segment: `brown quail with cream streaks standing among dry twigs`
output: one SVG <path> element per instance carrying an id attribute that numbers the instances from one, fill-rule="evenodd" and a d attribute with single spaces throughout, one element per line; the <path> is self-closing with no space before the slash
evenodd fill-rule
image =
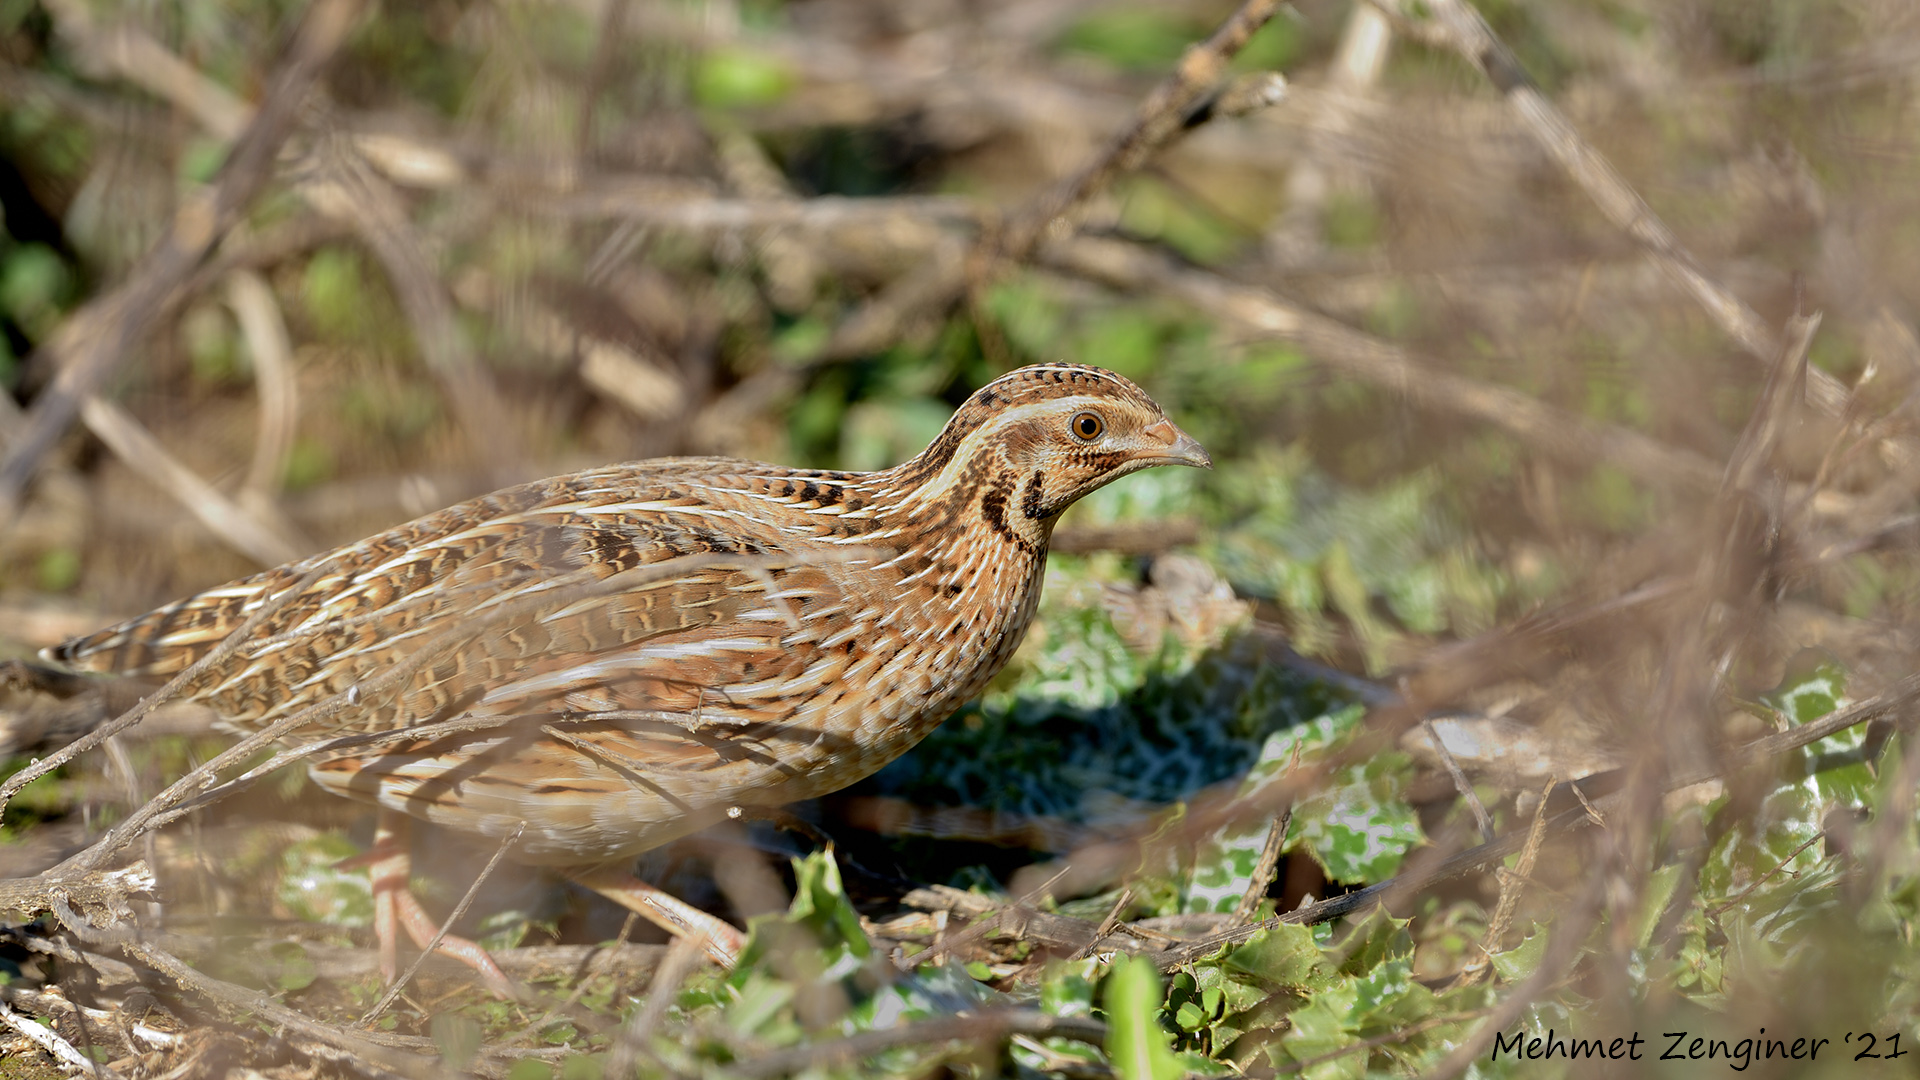
<path id="1" fill-rule="evenodd" d="M 184 696 L 238 728 L 346 696 L 288 736 L 380 736 L 321 753 L 324 788 L 490 838 L 524 826 L 516 859 L 685 928 L 691 909 L 660 919 L 655 890 L 622 892 L 618 863 L 904 753 L 1020 644 L 1060 511 L 1152 465 L 1210 461 L 1127 379 L 1023 367 L 887 471 L 682 457 L 574 473 L 46 655 L 169 676 L 300 586 Z M 419 671 L 371 690 L 419 650 Z"/>

